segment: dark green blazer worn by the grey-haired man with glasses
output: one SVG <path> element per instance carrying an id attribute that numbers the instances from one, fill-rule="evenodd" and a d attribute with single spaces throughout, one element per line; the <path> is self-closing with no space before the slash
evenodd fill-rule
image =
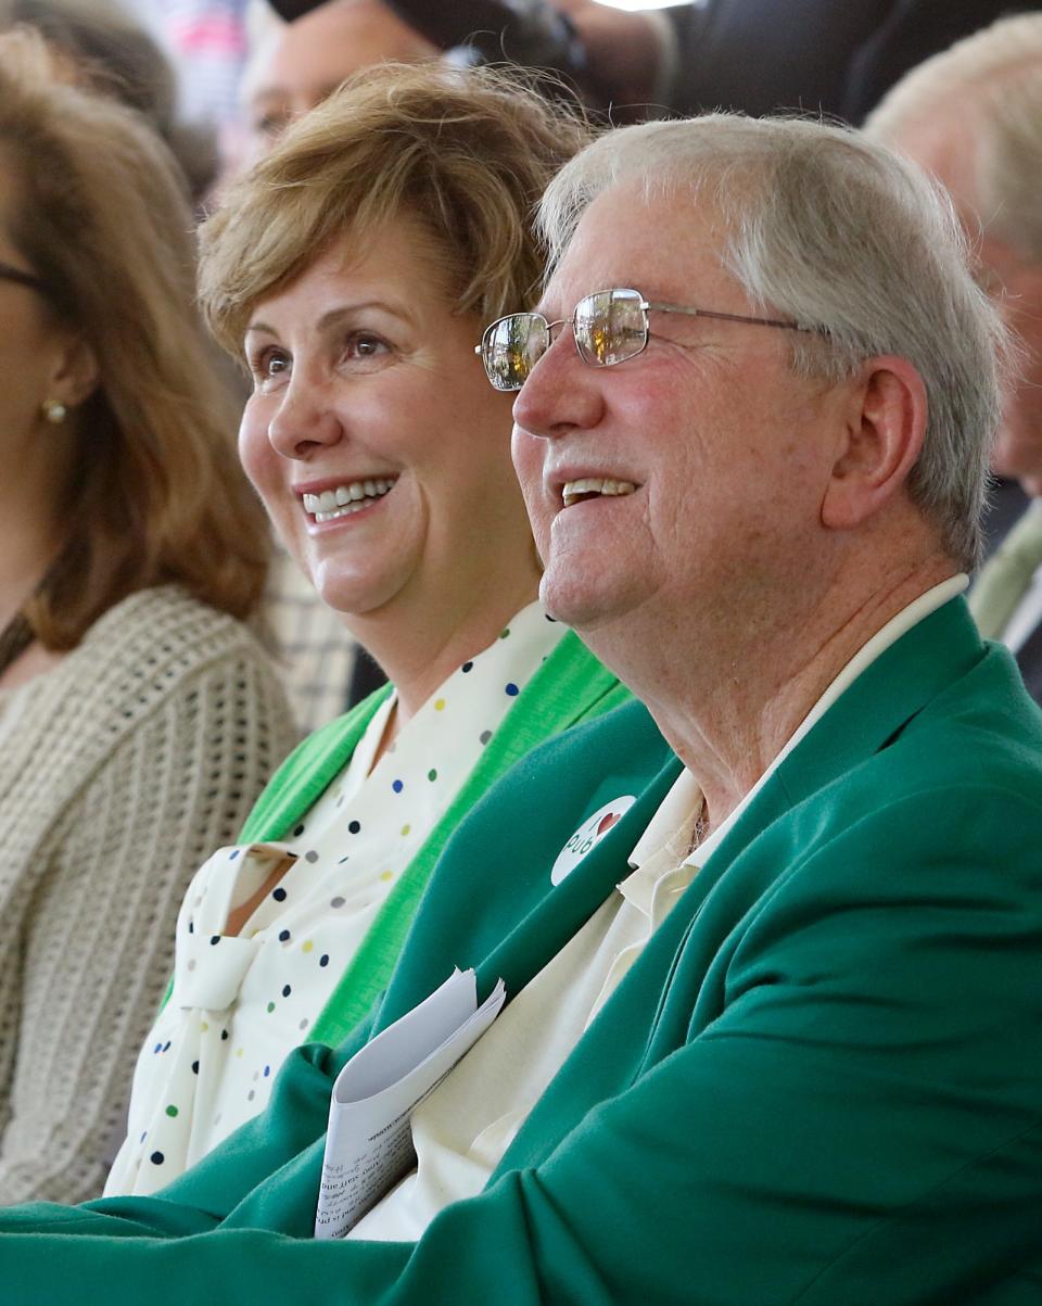
<path id="1" fill-rule="evenodd" d="M 1012 660 L 952 601 L 778 767 L 486 1191 L 418 1243 L 309 1238 L 363 1029 L 298 1050 L 268 1111 L 161 1196 L 0 1213 L 5 1306 L 1037 1303 L 1041 763 Z M 627 874 L 676 772 L 636 704 L 529 755 L 445 849 L 372 1028 L 453 964 L 516 994 Z"/>

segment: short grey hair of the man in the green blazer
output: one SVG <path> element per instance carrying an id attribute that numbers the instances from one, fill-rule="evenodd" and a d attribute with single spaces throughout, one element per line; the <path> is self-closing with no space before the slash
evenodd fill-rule
<path id="1" fill-rule="evenodd" d="M 586 206 L 632 180 L 652 201 L 713 206 L 725 270 L 757 307 L 810 328 L 791 333 L 798 372 L 838 381 L 880 354 L 913 363 L 930 418 L 909 492 L 952 558 L 973 565 L 1008 345 L 951 201 L 845 128 L 730 114 L 645 123 L 599 137 L 551 182 L 541 208 L 551 272 Z"/>

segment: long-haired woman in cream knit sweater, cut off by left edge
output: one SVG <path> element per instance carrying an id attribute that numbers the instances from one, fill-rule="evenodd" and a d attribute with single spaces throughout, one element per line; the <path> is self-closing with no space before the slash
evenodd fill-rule
<path id="1" fill-rule="evenodd" d="M 0 38 L 0 1202 L 95 1195 L 178 902 L 292 741 L 268 532 L 136 114 Z"/>

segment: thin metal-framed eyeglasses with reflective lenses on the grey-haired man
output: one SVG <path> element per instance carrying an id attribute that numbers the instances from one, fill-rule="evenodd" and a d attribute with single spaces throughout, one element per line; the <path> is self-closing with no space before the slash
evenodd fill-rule
<path id="1" fill-rule="evenodd" d="M 648 347 L 648 313 L 684 313 L 688 317 L 717 317 L 727 323 L 780 326 L 782 330 L 815 330 L 774 317 L 747 317 L 717 313 L 708 308 L 655 304 L 639 290 L 598 290 L 576 304 L 571 317 L 550 323 L 542 313 L 509 313 L 487 326 L 474 349 L 484 363 L 488 380 L 497 390 L 520 390 L 533 367 L 550 349 L 555 326 L 571 326 L 576 350 L 590 367 L 615 367 L 636 358 Z"/>

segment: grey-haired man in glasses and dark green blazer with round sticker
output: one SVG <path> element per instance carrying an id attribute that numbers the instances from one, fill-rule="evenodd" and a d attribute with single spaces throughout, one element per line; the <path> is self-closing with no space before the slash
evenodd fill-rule
<path id="1" fill-rule="evenodd" d="M 200 1166 L 4 1213 L 5 1306 L 1042 1298 L 1042 718 L 960 597 L 1003 337 L 956 225 L 726 116 L 602 137 L 543 223 L 483 360 L 543 598 L 649 710 L 487 795 L 371 1024 Z M 315 1239 L 334 1077 L 454 965 L 505 1008 Z"/>

